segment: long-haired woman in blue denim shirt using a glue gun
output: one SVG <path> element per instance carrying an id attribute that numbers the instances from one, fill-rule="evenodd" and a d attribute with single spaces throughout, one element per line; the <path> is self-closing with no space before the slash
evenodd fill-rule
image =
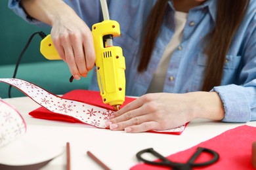
<path id="1" fill-rule="evenodd" d="M 89 27 L 102 14 L 95 0 L 65 2 L 10 0 L 9 7 L 53 27 L 54 46 L 79 79 L 93 69 Z M 126 94 L 141 97 L 114 113 L 107 127 L 140 132 L 195 118 L 256 120 L 255 0 L 112 0 L 108 7 L 121 25 L 114 44 L 125 56 Z"/>

